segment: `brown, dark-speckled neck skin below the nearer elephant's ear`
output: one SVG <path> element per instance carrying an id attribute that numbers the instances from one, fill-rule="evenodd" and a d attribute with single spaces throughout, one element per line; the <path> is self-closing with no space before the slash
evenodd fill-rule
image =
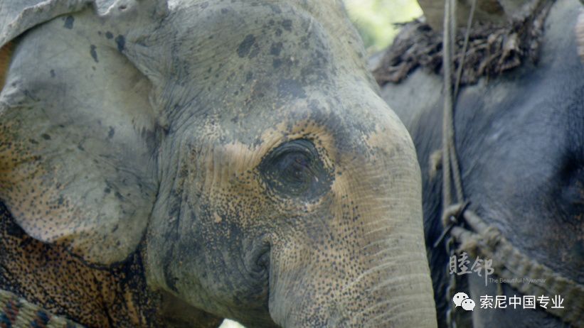
<path id="1" fill-rule="evenodd" d="M 61 246 L 28 236 L 0 202 L 0 254 L 0 326 L 5 320 L 12 327 L 28 327 L 15 325 L 13 319 L 75 321 L 90 327 L 158 324 L 154 307 L 160 297 L 147 288 L 139 252 L 111 268 L 96 268 Z"/>

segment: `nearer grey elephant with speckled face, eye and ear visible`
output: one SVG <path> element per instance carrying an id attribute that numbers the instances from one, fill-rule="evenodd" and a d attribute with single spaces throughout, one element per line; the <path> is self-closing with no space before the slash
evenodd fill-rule
<path id="1" fill-rule="evenodd" d="M 5 324 L 435 327 L 413 141 L 341 1 L 0 17 Z"/>

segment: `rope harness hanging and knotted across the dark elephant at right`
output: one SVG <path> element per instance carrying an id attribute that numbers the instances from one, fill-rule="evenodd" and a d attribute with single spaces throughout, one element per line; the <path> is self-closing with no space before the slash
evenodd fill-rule
<path id="1" fill-rule="evenodd" d="M 467 34 L 463 45 L 464 53 L 466 53 L 476 4 L 477 0 L 473 0 L 467 21 Z M 455 147 L 454 110 L 461 75 L 461 70 L 459 69 L 453 92 L 452 58 L 454 54 L 452 49 L 457 26 L 455 20 L 456 0 L 445 0 L 444 13 L 444 46 L 442 48 L 445 89 L 444 113 L 442 116 L 442 225 L 444 231 L 434 247 L 440 245 L 442 240 L 446 238 L 446 248 L 449 256 L 453 256 L 456 251 L 467 251 L 469 256 L 475 258 L 477 256 L 491 258 L 494 274 L 509 281 L 508 284 L 511 287 L 519 290 L 524 295 L 561 295 L 565 300 L 563 308 L 547 307 L 544 310 L 551 315 L 559 317 L 563 322 L 573 325 L 573 327 L 584 328 L 584 285 L 564 278 L 551 268 L 533 261 L 529 256 L 515 248 L 501 234 L 499 229 L 489 226 L 479 215 L 468 209 L 469 202 L 464 199 L 462 178 Z M 455 201 L 452 199 L 452 181 L 455 187 Z M 455 244 L 459 245 L 456 250 Z M 446 293 L 446 297 L 448 297 L 447 303 L 450 305 L 446 317 L 448 327 L 456 327 L 451 302 L 455 294 L 456 277 L 457 275 L 450 275 L 450 283 Z M 521 283 L 521 280 L 514 279 L 517 277 L 532 278 L 533 283 Z M 539 280 L 536 278 L 539 278 Z M 538 281 L 543 281 L 544 283 L 538 283 Z"/>

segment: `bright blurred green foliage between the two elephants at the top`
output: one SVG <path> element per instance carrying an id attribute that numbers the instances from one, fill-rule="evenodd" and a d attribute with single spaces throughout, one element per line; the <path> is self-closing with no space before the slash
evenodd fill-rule
<path id="1" fill-rule="evenodd" d="M 344 0 L 349 17 L 363 38 L 368 53 L 383 50 L 398 33 L 395 23 L 422 15 L 416 0 Z"/>

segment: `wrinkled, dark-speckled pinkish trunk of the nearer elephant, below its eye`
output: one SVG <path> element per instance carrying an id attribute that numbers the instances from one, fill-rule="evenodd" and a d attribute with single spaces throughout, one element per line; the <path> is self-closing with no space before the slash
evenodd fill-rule
<path id="1" fill-rule="evenodd" d="M 419 170 L 357 166 L 337 177 L 330 216 L 270 251 L 270 315 L 282 327 L 435 327 Z"/>

